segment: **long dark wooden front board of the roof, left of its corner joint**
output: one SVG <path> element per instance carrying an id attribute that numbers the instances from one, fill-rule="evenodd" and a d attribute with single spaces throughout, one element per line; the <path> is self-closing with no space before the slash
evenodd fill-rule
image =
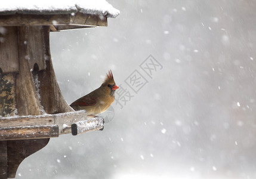
<path id="1" fill-rule="evenodd" d="M 69 23 L 69 14 L 13 14 L 0 16 L 0 26 L 38 26 Z"/>

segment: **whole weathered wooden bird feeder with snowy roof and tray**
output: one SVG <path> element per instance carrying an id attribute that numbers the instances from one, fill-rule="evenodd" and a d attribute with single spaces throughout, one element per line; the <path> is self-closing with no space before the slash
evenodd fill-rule
<path id="1" fill-rule="evenodd" d="M 106 1 L 100 3 L 100 8 L 1 5 L 0 178 L 15 177 L 20 162 L 50 137 L 103 129 L 103 118 L 88 119 L 85 110 L 75 112 L 64 100 L 49 46 L 50 32 L 107 26 L 108 17 L 118 16 Z"/>

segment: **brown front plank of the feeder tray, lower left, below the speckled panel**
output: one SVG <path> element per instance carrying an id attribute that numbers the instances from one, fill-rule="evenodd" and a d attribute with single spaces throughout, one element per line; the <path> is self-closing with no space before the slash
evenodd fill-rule
<path id="1" fill-rule="evenodd" d="M 0 128 L 0 140 L 58 137 L 57 125 L 16 126 Z"/>

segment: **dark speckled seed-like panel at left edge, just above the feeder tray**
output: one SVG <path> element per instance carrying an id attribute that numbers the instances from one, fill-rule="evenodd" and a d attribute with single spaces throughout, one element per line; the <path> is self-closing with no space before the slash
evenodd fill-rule
<path id="1" fill-rule="evenodd" d="M 0 116 L 13 116 L 17 112 L 14 81 L 13 73 L 0 75 Z"/>

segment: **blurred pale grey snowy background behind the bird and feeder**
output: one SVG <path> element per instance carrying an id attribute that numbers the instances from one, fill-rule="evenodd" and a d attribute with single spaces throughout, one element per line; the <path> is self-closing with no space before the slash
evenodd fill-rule
<path id="1" fill-rule="evenodd" d="M 115 116 L 51 138 L 16 178 L 256 178 L 256 1 L 109 3 L 108 27 L 52 32 L 50 46 L 69 104 L 112 69 Z"/>

